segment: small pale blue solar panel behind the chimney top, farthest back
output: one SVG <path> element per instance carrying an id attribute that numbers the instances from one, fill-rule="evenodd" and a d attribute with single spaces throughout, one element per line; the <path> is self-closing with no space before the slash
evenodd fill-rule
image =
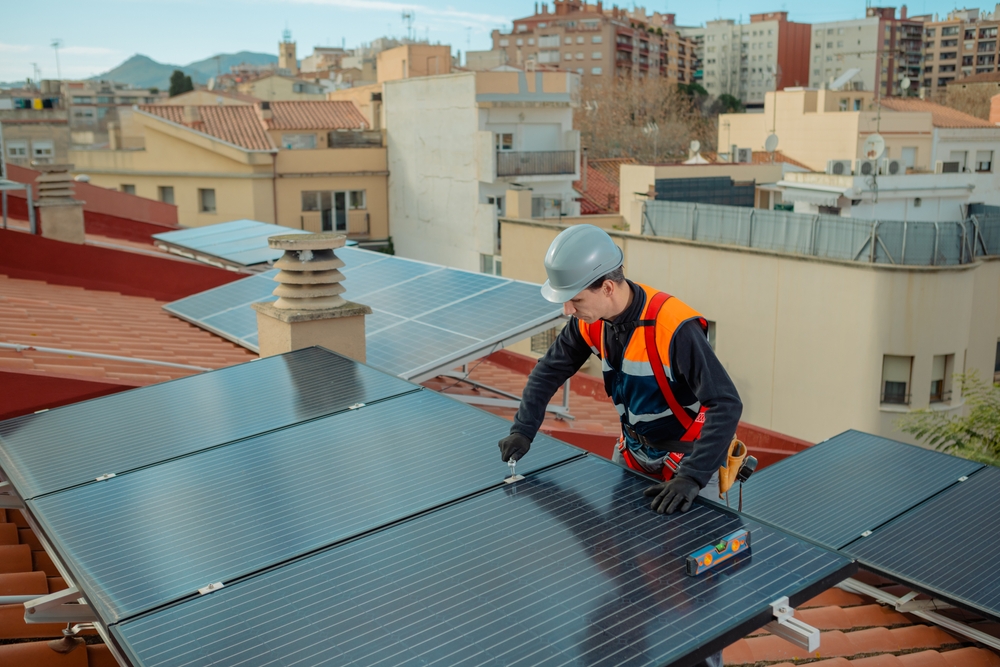
<path id="1" fill-rule="evenodd" d="M 267 244 L 268 237 L 276 234 L 308 232 L 256 220 L 233 220 L 153 234 L 153 238 L 157 245 L 185 257 L 210 264 L 245 267 L 273 262 L 281 257 L 284 251 L 275 250 Z"/>

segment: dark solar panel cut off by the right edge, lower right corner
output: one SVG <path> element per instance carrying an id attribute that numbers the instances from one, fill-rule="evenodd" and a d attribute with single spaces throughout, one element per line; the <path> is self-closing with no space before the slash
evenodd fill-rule
<path id="1" fill-rule="evenodd" d="M 843 549 L 897 581 L 1000 619 L 1000 469 L 968 480 Z"/>

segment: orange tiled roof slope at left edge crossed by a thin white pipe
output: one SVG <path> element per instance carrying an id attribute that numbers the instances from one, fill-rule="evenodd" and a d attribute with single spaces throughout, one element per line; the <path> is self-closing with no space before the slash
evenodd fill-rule
<path id="1" fill-rule="evenodd" d="M 178 320 L 155 299 L 0 275 L 0 342 L 222 368 L 255 354 Z M 140 386 L 198 371 L 0 349 L 0 369 Z"/>

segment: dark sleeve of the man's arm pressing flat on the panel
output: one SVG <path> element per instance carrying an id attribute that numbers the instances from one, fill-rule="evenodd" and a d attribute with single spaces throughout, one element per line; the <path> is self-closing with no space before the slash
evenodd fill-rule
<path id="1" fill-rule="evenodd" d="M 673 348 L 671 367 L 708 408 L 694 451 L 681 460 L 677 474 L 691 477 L 704 487 L 726 460 L 743 414 L 743 402 L 697 321 L 677 331 Z"/>

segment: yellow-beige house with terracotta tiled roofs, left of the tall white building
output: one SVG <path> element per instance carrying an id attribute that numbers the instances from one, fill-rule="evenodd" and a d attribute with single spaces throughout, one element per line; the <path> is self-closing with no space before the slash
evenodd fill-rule
<path id="1" fill-rule="evenodd" d="M 348 102 L 145 105 L 141 148 L 80 150 L 92 183 L 177 205 L 181 225 L 251 219 L 388 237 L 386 151 Z"/>

